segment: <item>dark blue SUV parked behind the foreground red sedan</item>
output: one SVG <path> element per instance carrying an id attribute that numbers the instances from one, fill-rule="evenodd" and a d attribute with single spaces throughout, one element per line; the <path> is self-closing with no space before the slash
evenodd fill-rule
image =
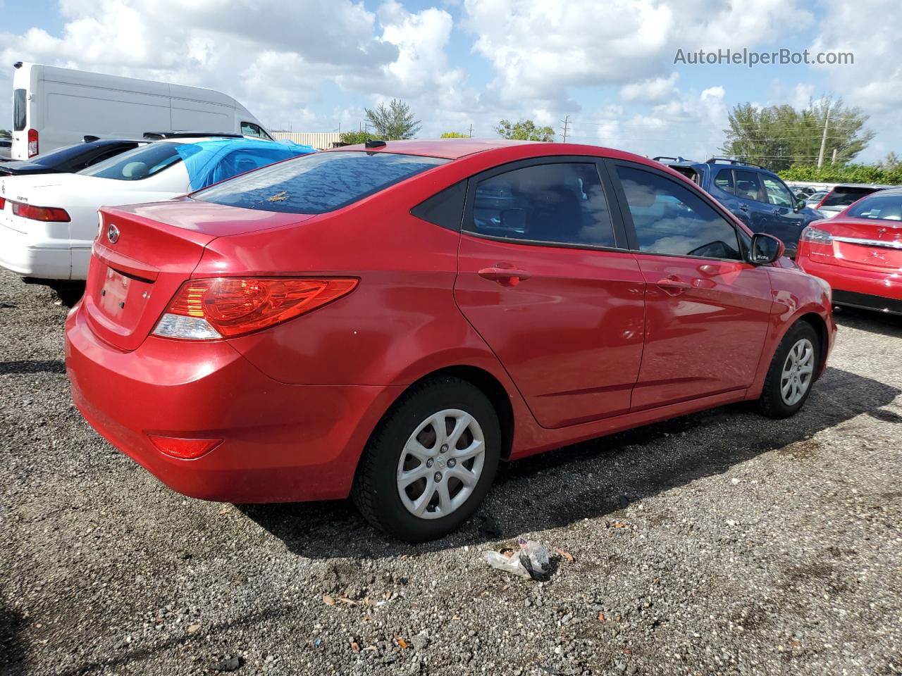
<path id="1" fill-rule="evenodd" d="M 753 233 L 768 233 L 783 240 L 787 255 L 796 257 L 805 225 L 823 218 L 796 199 L 773 171 L 739 160 L 711 158 L 704 162 L 681 157 L 656 157 L 706 190 Z"/>

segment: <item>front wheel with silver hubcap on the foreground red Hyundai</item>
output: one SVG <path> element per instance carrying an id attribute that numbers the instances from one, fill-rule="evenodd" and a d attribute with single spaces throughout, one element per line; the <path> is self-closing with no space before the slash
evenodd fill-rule
<path id="1" fill-rule="evenodd" d="M 793 324 L 770 361 L 758 411 L 769 418 L 794 416 L 811 394 L 820 368 L 820 340 L 815 328 L 805 321 Z"/>

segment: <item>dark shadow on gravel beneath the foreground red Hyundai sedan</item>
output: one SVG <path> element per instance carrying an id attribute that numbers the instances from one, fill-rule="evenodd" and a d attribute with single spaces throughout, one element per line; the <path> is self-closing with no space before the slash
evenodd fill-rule
<path id="1" fill-rule="evenodd" d="M 458 532 L 426 544 L 386 537 L 366 524 L 349 500 L 239 508 L 291 552 L 315 559 L 378 559 L 466 544 L 497 545 L 584 518 L 610 515 L 615 520 L 632 502 L 722 474 L 761 453 L 817 461 L 820 444 L 811 437 L 822 430 L 861 415 L 902 422 L 902 416 L 882 410 L 900 393 L 877 380 L 829 368 L 805 408 L 786 420 L 732 405 L 502 463 L 476 516 Z"/>

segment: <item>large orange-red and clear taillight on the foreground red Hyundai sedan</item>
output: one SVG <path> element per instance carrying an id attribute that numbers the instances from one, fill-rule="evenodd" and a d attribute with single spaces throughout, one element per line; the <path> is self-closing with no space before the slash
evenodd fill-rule
<path id="1" fill-rule="evenodd" d="M 215 340 L 281 324 L 351 293 L 358 279 L 189 279 L 162 315 L 155 335 Z"/>

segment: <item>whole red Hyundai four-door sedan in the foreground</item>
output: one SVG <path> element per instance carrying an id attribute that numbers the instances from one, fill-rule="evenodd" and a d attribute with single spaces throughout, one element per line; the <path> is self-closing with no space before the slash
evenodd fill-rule
<path id="1" fill-rule="evenodd" d="M 830 289 L 657 162 L 370 142 L 101 210 L 67 322 L 87 421 L 189 496 L 345 498 L 409 541 L 498 462 L 737 401 L 802 407 Z"/>

